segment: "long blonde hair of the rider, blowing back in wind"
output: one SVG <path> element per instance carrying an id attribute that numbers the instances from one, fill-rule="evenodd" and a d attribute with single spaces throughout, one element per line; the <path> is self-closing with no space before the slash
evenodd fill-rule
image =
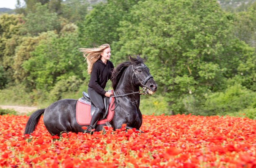
<path id="1" fill-rule="evenodd" d="M 108 47 L 110 47 L 109 44 L 102 44 L 101 46 L 98 46 L 97 48 L 94 47 L 92 49 L 79 48 L 79 51 L 83 52 L 83 57 L 85 57 L 85 60 L 88 64 L 87 66 L 88 74 L 92 73 L 93 64 L 97 60 L 101 59 L 101 53 L 103 53 L 103 51 Z"/>

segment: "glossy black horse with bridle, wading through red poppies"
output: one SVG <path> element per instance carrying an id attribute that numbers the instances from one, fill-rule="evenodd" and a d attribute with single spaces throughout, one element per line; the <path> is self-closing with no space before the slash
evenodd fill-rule
<path id="1" fill-rule="evenodd" d="M 129 56 L 129 59 L 130 61 L 119 64 L 112 73 L 112 88 L 117 96 L 121 96 L 116 97 L 115 114 L 110 124 L 114 129 L 126 124 L 128 128 L 139 130 L 142 124 L 140 95 L 135 92 L 141 86 L 147 93 L 153 94 L 157 90 L 157 84 L 139 55 L 137 58 Z M 61 99 L 45 109 L 35 111 L 27 121 L 24 134 L 30 134 L 36 129 L 43 113 L 43 122 L 51 135 L 60 135 L 63 131 L 84 132 L 82 125 L 76 122 L 76 102 L 76 99 Z M 105 124 L 97 125 L 95 131 L 102 130 L 103 126 Z"/>

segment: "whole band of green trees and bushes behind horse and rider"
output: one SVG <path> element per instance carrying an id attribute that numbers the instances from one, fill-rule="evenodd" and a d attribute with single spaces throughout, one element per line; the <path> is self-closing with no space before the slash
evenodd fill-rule
<path id="1" fill-rule="evenodd" d="M 86 0 L 61 1 L 25 0 L 25 16 L 0 15 L 1 104 L 78 99 L 90 75 L 77 48 L 109 43 L 115 66 L 140 54 L 158 84 L 141 97 L 143 114 L 256 117 L 253 0 L 236 13 L 208 0 L 108 0 L 89 14 Z"/>

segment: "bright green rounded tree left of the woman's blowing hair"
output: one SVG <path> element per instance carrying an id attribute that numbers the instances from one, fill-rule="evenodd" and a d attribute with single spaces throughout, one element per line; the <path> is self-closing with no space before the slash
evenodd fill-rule
<path id="1" fill-rule="evenodd" d="M 76 32 L 63 32 L 60 37 L 52 32 L 51 38 L 40 40 L 31 53 L 32 57 L 22 64 L 29 73 L 29 84 L 36 89 L 50 91 L 63 75 L 82 78 L 83 57 L 77 49 L 77 39 Z"/>

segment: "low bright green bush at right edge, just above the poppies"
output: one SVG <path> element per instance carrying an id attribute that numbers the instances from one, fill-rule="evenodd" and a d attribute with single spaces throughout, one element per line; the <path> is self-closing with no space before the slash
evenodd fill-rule
<path id="1" fill-rule="evenodd" d="M 229 86 L 224 92 L 205 95 L 204 111 L 207 115 L 225 115 L 228 113 L 252 113 L 256 107 L 256 93 L 236 84 Z"/>

